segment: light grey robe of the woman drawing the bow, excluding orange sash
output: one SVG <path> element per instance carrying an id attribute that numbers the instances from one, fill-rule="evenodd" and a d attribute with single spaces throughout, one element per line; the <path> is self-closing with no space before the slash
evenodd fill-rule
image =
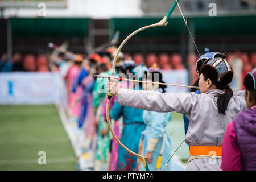
<path id="1" fill-rule="evenodd" d="M 221 90 L 206 93 L 160 93 L 156 91 L 120 89 L 118 104 L 156 112 L 186 114 L 189 127 L 185 143 L 189 146 L 222 146 L 226 126 L 236 115 L 247 109 L 244 91 L 234 92 L 230 98 L 226 115 L 218 113 L 217 94 Z M 191 156 L 189 156 L 190 158 Z M 199 158 L 187 164 L 187 170 L 221 170 L 221 159 Z"/>

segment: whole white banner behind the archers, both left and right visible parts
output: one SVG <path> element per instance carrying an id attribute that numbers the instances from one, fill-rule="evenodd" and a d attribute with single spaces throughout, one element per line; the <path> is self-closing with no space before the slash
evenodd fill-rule
<path id="1" fill-rule="evenodd" d="M 188 85 L 186 69 L 161 72 L 163 81 L 168 84 Z M 65 100 L 64 89 L 59 73 L 0 73 L 0 105 L 55 104 Z M 166 92 L 188 92 L 188 88 L 167 86 Z"/>

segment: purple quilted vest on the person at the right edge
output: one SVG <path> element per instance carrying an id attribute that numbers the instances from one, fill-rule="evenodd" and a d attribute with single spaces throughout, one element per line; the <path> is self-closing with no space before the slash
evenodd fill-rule
<path id="1" fill-rule="evenodd" d="M 256 107 L 237 114 L 233 120 L 243 170 L 256 171 Z"/>

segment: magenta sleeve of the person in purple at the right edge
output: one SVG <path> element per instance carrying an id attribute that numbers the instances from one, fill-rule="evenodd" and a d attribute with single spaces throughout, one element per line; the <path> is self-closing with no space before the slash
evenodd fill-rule
<path id="1" fill-rule="evenodd" d="M 222 143 L 222 163 L 221 169 L 224 171 L 241 171 L 242 160 L 241 151 L 237 147 L 236 132 L 233 121 L 226 127 L 224 140 Z"/>

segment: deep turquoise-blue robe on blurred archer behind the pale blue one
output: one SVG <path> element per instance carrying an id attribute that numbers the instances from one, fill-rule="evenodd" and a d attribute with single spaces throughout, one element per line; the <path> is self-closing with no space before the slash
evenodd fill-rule
<path id="1" fill-rule="evenodd" d="M 139 139 L 146 127 L 142 114 L 143 110 L 141 109 L 118 105 L 117 102 L 115 102 L 110 112 L 110 117 L 114 120 L 118 120 L 121 116 L 123 117 L 124 126 L 120 141 L 137 154 L 139 151 Z M 137 167 L 137 160 L 139 160 L 137 156 L 130 154 L 125 148 L 119 147 L 117 170 L 134 170 Z"/>

